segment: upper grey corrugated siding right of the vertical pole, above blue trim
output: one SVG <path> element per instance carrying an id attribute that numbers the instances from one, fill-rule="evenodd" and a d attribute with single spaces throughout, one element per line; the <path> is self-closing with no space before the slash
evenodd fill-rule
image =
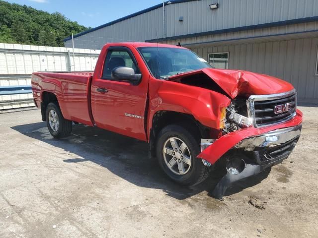
<path id="1" fill-rule="evenodd" d="M 209 4 L 219 2 L 211 10 Z M 166 7 L 167 37 L 318 15 L 317 0 L 199 0 Z M 179 22 L 183 16 L 183 22 Z"/>

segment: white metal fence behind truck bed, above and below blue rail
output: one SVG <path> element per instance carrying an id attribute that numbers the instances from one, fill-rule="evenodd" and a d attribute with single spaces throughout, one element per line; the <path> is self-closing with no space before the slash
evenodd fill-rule
<path id="1" fill-rule="evenodd" d="M 74 52 L 73 60 L 72 48 L 0 43 L 0 86 L 31 85 L 34 71 L 94 70 L 99 50 Z M 32 98 L 32 94 L 0 96 L 0 110 L 32 106 Z"/>

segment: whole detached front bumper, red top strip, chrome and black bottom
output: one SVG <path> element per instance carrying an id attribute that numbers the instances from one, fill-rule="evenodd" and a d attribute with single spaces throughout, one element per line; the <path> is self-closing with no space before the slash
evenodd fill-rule
<path id="1" fill-rule="evenodd" d="M 212 196 L 222 199 L 232 183 L 256 175 L 286 159 L 294 149 L 302 129 L 302 113 L 285 122 L 266 128 L 246 128 L 222 136 L 198 158 L 215 164 L 225 155 L 226 175 L 218 182 Z M 228 154 L 228 153 L 227 153 Z"/>

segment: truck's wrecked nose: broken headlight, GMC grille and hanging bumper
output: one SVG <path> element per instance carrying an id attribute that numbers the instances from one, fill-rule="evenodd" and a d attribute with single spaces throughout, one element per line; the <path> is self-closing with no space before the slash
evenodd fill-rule
<path id="1" fill-rule="evenodd" d="M 275 113 L 278 106 L 286 104 L 292 107 Z M 222 199 L 234 182 L 281 163 L 296 146 L 301 128 L 302 114 L 296 110 L 295 91 L 232 100 L 222 136 L 201 140 L 198 158 L 206 166 L 221 166 L 225 172 L 212 195 Z"/>

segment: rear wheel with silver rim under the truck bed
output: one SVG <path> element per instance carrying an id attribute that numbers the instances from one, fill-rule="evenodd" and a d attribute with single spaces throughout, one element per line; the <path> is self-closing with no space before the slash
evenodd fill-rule
<path id="1" fill-rule="evenodd" d="M 58 105 L 49 103 L 45 113 L 46 125 L 55 138 L 63 138 L 70 135 L 72 131 L 72 121 L 63 118 Z"/>

